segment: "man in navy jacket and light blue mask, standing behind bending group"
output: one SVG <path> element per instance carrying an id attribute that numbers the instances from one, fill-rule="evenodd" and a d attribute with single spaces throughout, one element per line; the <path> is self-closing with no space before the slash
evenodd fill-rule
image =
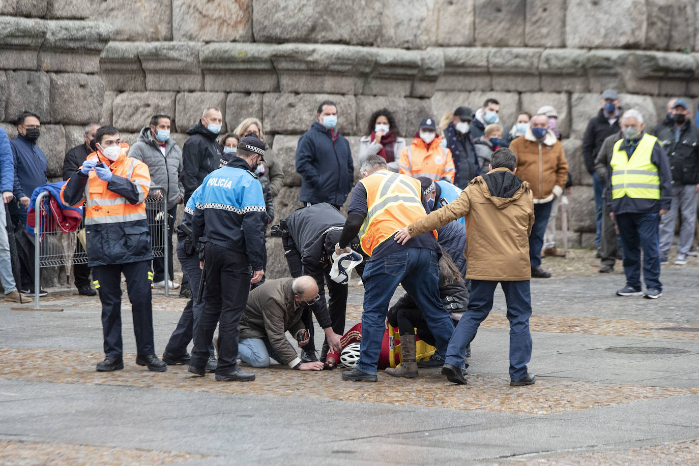
<path id="1" fill-rule="evenodd" d="M 354 184 L 349 143 L 335 128 L 338 108 L 332 101 L 318 107 L 318 121 L 296 146 L 296 171 L 301 175 L 301 202 L 306 207 L 329 203 L 338 209 Z"/>

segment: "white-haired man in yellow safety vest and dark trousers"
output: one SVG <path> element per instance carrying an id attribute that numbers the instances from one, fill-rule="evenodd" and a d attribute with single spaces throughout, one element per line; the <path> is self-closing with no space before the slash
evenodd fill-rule
<path id="1" fill-rule="evenodd" d="M 617 295 L 657 299 L 663 296 L 658 224 L 672 202 L 670 163 L 657 138 L 643 131 L 643 116 L 637 110 L 624 112 L 621 132 L 624 137 L 614 143 L 607 170 L 607 204 L 624 248 L 626 286 Z"/>

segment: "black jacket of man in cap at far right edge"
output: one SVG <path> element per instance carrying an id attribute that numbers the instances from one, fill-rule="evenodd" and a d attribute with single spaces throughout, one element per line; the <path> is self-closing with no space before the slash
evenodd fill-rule
<path id="1" fill-rule="evenodd" d="M 675 124 L 672 126 L 658 125 L 654 129 L 658 142 L 668 154 L 672 184 L 699 183 L 699 128 L 686 120 L 679 132 L 679 140 L 675 141 Z"/>

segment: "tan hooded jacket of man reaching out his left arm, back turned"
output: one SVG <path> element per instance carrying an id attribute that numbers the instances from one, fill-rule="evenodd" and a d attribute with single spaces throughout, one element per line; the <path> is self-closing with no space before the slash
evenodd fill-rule
<path id="1" fill-rule="evenodd" d="M 466 278 L 531 279 L 529 233 L 534 203 L 529 183 L 507 168 L 476 177 L 452 203 L 408 226 L 412 238 L 466 217 Z"/>

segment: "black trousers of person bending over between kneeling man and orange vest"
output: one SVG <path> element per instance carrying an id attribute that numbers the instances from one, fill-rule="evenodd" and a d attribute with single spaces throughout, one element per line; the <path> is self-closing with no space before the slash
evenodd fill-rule
<path id="1" fill-rule="evenodd" d="M 282 244 L 284 245 L 284 257 L 287 259 L 287 264 L 289 265 L 289 272 L 291 277 L 301 277 L 301 275 L 310 275 L 315 279 L 318 284 L 318 294 L 320 299 L 315 305 L 312 305 L 308 309 L 303 311 L 301 316 L 301 321 L 305 328 L 308 328 L 308 333 L 310 334 L 310 342 L 303 347 L 304 350 L 315 351 L 315 343 L 313 340 L 313 335 L 315 330 L 313 328 L 313 315 L 315 314 L 316 319 L 322 325 L 322 322 L 318 316 L 322 316 L 324 313 L 330 314 L 330 325 L 333 332 L 338 335 L 343 335 L 345 333 L 345 313 L 347 311 L 347 285 L 339 284 L 333 282 L 330 278 L 329 272 L 324 272 L 321 268 L 313 268 L 308 265 L 304 265 L 301 261 L 301 252 L 296 248 L 296 244 L 291 237 L 282 238 Z M 328 286 L 329 300 L 326 301 L 325 298 L 325 285 Z M 327 340 L 323 341 L 323 347 L 327 347 Z"/>

